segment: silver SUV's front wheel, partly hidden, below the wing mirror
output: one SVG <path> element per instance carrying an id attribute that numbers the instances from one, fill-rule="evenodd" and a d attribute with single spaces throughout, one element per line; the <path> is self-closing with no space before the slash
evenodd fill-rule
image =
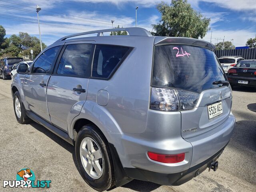
<path id="1" fill-rule="evenodd" d="M 18 109 L 17 109 L 17 106 L 18 106 Z M 20 124 L 26 124 L 31 122 L 30 118 L 26 115 L 26 111 L 20 99 L 20 94 L 18 91 L 16 91 L 13 96 L 13 107 L 14 107 L 14 113 L 15 113 L 16 119 Z"/>

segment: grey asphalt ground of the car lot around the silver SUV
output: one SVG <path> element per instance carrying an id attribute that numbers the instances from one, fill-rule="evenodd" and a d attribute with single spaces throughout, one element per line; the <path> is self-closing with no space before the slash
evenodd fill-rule
<path id="1" fill-rule="evenodd" d="M 14 115 L 11 80 L 0 79 L 0 191 L 91 192 L 75 163 L 74 147 L 43 126 L 18 124 Z M 218 159 L 216 172 L 207 170 L 181 186 L 161 186 L 133 180 L 111 192 L 252 192 L 256 191 L 256 88 L 235 87 L 232 112 L 234 134 Z M 3 188 L 21 168 L 36 180 L 51 180 L 50 188 Z"/>

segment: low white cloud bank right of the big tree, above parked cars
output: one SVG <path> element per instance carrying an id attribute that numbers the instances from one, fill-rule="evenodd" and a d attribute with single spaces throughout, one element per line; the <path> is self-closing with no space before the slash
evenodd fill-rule
<path id="1" fill-rule="evenodd" d="M 222 38 L 222 40 L 218 40 L 218 42 L 223 41 L 225 36 L 225 41 L 231 41 L 234 39 L 235 46 L 245 46 L 248 38 L 253 38 L 255 36 L 254 30 L 213 30 L 212 31 L 212 43 L 217 43 L 215 38 Z M 211 31 L 209 31 L 204 40 L 210 42 Z"/>

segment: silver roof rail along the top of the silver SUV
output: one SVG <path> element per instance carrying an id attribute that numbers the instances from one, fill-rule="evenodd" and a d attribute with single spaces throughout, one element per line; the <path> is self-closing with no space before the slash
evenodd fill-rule
<path id="1" fill-rule="evenodd" d="M 88 31 L 88 32 L 77 33 L 77 34 L 73 34 L 73 35 L 68 35 L 68 36 L 62 37 L 59 40 L 57 40 L 56 42 L 64 41 L 64 40 L 66 40 L 67 38 L 70 38 L 70 37 L 76 37 L 76 36 L 87 35 L 87 34 L 94 34 L 94 33 L 98 33 L 97 36 L 103 36 L 104 32 L 112 32 L 112 31 L 127 31 L 130 36 L 152 36 L 152 34 L 149 31 L 147 31 L 146 29 L 144 29 L 144 28 L 140 28 L 140 27 L 127 27 L 127 28 L 103 29 L 103 30 L 96 30 L 96 31 Z"/>

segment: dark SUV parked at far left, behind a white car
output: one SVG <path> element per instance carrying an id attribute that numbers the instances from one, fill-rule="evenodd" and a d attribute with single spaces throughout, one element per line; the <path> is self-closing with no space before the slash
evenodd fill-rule
<path id="1" fill-rule="evenodd" d="M 11 77 L 12 66 L 16 63 L 24 61 L 23 58 L 16 57 L 16 58 L 4 58 L 1 60 L 0 63 L 0 75 L 3 80 Z"/>

